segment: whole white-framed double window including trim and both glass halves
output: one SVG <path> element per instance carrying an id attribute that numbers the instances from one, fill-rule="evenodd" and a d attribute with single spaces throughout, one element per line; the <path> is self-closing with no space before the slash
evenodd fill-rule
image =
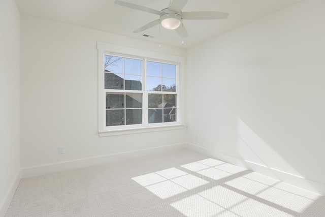
<path id="1" fill-rule="evenodd" d="M 100 136 L 183 128 L 183 57 L 100 42 L 98 49 Z"/>

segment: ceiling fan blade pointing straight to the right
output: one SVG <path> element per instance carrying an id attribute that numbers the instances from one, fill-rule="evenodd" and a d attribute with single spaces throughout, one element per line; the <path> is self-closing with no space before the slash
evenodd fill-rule
<path id="1" fill-rule="evenodd" d="M 229 13 L 217 12 L 217 11 L 192 11 L 183 12 L 182 18 L 184 20 L 214 20 L 214 19 L 226 19 Z"/>

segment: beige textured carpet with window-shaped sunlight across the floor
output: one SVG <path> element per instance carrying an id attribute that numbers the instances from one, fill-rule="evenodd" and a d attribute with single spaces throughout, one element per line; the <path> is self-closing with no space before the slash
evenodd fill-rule
<path id="1" fill-rule="evenodd" d="M 11 216 L 325 216 L 325 197 L 188 149 L 21 180 Z"/>

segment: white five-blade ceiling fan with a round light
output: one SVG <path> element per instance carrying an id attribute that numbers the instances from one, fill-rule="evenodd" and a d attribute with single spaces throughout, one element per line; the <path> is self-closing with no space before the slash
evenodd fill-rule
<path id="1" fill-rule="evenodd" d="M 212 20 L 212 19 L 226 19 L 229 16 L 229 13 L 217 12 L 217 11 L 182 12 L 182 9 L 184 8 L 187 2 L 188 0 L 173 0 L 170 2 L 168 8 L 158 11 L 141 5 L 135 5 L 132 3 L 115 0 L 115 4 L 117 5 L 121 5 L 127 8 L 132 8 L 135 10 L 144 11 L 144 12 L 148 12 L 160 16 L 159 19 L 149 22 L 148 24 L 134 30 L 134 33 L 141 33 L 144 30 L 161 23 L 161 25 L 164 28 L 175 29 L 176 33 L 181 38 L 186 38 L 188 37 L 187 30 L 184 25 L 181 25 L 183 19 L 184 20 Z"/>

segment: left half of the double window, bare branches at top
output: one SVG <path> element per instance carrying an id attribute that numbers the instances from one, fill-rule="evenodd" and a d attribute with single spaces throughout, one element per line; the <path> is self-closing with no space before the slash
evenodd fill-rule
<path id="1" fill-rule="evenodd" d="M 143 60 L 104 54 L 106 127 L 142 121 Z"/>

